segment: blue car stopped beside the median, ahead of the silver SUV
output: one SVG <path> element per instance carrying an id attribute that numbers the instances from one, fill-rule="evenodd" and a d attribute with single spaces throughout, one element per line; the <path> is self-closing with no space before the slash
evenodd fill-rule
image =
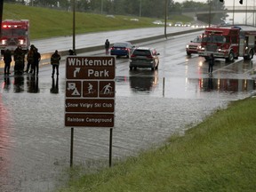
<path id="1" fill-rule="evenodd" d="M 134 46 L 130 42 L 119 42 L 113 44 L 113 46 L 110 48 L 110 54 L 116 55 L 117 57 L 126 56 L 129 58 L 133 47 Z"/>

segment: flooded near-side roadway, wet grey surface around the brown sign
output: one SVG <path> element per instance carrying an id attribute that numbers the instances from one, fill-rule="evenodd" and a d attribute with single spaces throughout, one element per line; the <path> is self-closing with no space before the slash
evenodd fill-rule
<path id="1" fill-rule="evenodd" d="M 230 100 L 255 93 L 255 59 L 218 60 L 209 76 L 203 58 L 186 55 L 185 45 L 195 36 L 154 43 L 161 54 L 156 71 L 130 71 L 129 60 L 116 59 L 114 162 L 157 146 L 172 133 L 182 134 Z M 70 129 L 64 127 L 64 62 L 58 81 L 52 81 L 51 72 L 46 65 L 38 78 L 0 75 L 1 192 L 52 191 L 67 180 Z M 108 166 L 108 142 L 106 128 L 76 128 L 74 164 Z"/>

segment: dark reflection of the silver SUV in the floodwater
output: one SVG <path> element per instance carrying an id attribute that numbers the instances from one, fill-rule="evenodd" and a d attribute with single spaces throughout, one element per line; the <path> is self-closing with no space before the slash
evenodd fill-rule
<path id="1" fill-rule="evenodd" d="M 158 83 L 158 72 L 157 70 L 131 70 L 129 81 L 132 92 L 152 92 Z"/>

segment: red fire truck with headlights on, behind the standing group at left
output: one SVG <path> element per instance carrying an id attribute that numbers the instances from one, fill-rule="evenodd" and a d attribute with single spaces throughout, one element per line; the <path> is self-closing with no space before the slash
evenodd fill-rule
<path id="1" fill-rule="evenodd" d="M 1 36 L 0 36 L 0 50 L 9 49 L 12 52 L 20 46 L 24 52 L 28 52 L 29 39 L 29 21 L 28 20 L 3 20 Z"/>

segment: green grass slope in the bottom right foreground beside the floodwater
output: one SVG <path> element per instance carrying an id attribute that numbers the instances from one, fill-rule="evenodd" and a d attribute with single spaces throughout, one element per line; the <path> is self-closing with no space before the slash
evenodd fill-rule
<path id="1" fill-rule="evenodd" d="M 71 180 L 61 192 L 254 192 L 256 98 L 216 111 L 184 136 L 111 169 Z"/>

